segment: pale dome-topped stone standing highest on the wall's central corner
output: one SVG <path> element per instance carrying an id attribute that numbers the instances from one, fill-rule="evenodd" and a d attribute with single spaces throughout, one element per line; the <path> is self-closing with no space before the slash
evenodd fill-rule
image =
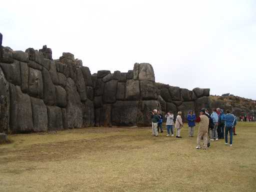
<path id="1" fill-rule="evenodd" d="M 139 64 L 138 79 L 154 81 L 154 70 L 151 64 L 149 63 Z"/>

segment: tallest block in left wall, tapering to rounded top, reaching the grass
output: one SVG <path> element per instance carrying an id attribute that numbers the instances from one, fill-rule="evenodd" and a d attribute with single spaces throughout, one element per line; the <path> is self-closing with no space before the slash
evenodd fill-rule
<path id="1" fill-rule="evenodd" d="M 82 103 L 76 90 L 74 81 L 67 78 L 66 86 L 67 106 L 66 119 L 68 128 L 81 128 L 82 126 Z"/>

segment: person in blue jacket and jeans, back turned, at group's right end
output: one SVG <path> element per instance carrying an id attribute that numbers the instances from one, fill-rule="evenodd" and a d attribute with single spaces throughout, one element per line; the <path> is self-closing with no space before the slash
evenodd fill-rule
<path id="1" fill-rule="evenodd" d="M 229 146 L 232 146 L 232 136 L 233 136 L 233 127 L 236 125 L 236 118 L 233 114 L 226 110 L 226 114 L 224 116 L 225 119 L 225 144 L 227 143 L 227 133 L 229 132 Z"/>

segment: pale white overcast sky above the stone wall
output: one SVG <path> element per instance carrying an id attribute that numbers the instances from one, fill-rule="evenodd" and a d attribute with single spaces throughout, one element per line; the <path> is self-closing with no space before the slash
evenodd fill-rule
<path id="1" fill-rule="evenodd" d="M 256 99 L 255 0 L 4 0 L 3 45 L 46 44 L 91 73 L 152 64 L 155 80 Z"/>

